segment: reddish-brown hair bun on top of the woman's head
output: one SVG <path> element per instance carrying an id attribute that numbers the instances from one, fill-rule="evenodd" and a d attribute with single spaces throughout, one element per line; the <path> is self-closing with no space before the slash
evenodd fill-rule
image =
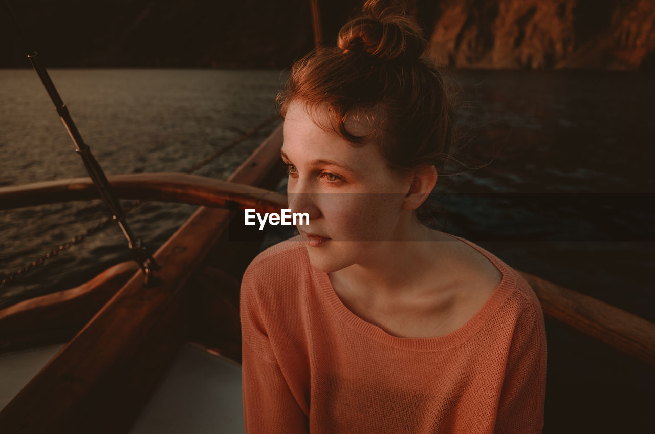
<path id="1" fill-rule="evenodd" d="M 416 60 L 426 41 L 415 22 L 387 10 L 366 10 L 366 15 L 348 22 L 339 31 L 337 46 L 344 52 L 357 47 L 381 60 Z"/>

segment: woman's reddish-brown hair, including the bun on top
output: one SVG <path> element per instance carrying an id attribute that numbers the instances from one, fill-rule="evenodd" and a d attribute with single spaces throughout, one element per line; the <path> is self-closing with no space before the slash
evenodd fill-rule
<path id="1" fill-rule="evenodd" d="M 278 111 L 284 116 L 291 102 L 322 106 L 331 130 L 354 146 L 374 142 L 391 170 L 434 165 L 441 172 L 454 142 L 453 109 L 443 76 L 422 57 L 425 47 L 413 20 L 369 0 L 341 28 L 336 46 L 317 47 L 293 64 Z M 373 126 L 365 136 L 346 129 L 359 113 Z"/>

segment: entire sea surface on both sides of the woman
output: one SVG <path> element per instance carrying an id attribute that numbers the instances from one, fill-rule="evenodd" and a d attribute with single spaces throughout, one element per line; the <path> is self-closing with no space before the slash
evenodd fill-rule
<path id="1" fill-rule="evenodd" d="M 50 75 L 107 174 L 193 167 L 274 115 L 273 98 L 286 76 L 215 69 L 52 69 Z M 466 145 L 462 161 L 483 167 L 440 176 L 435 199 L 448 212 L 443 230 L 510 266 L 655 321 L 652 74 L 454 71 L 447 82 L 457 98 L 458 143 Z M 227 178 L 275 125 L 196 173 Z M 77 176 L 86 176 L 81 159 L 36 73 L 0 70 L 0 187 Z M 157 248 L 195 209 L 145 203 L 128 222 Z M 100 201 L 0 211 L 0 280 L 108 215 Z M 121 231 L 108 226 L 0 287 L 0 309 L 79 285 L 89 273 L 129 259 Z M 623 405 L 639 422 L 638 410 L 652 403 L 652 394 L 650 401 L 634 397 L 652 388 L 652 373 L 569 328 L 552 321 L 547 327 L 547 400 L 559 397 L 547 401 L 547 418 L 549 405 L 589 418 Z M 607 401 L 599 393 L 633 401 Z"/>

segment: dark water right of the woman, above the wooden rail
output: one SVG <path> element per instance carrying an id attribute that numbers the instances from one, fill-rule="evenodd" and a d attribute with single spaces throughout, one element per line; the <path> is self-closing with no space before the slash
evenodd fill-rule
<path id="1" fill-rule="evenodd" d="M 453 178 L 455 233 L 509 264 L 655 321 L 652 74 L 477 71 L 469 155 Z M 466 106 L 466 104 L 464 104 Z M 504 241 L 514 238 L 515 241 Z M 517 241 L 517 240 L 525 241 Z"/>

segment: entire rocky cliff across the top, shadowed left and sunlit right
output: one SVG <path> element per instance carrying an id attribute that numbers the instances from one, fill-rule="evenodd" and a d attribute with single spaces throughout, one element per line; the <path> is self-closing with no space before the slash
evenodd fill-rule
<path id="1" fill-rule="evenodd" d="M 309 0 L 10 3 L 48 66 L 284 68 L 313 43 Z M 357 3 L 320 1 L 327 40 Z M 451 67 L 655 69 L 655 0 L 405 3 Z M 0 67 L 28 66 L 6 28 Z"/>

